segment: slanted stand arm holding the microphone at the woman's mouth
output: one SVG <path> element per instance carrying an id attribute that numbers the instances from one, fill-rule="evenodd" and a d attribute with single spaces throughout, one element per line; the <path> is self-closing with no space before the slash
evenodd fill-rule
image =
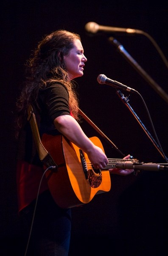
<path id="1" fill-rule="evenodd" d="M 129 105 L 128 101 L 129 99 L 124 97 L 123 93 L 121 93 L 120 90 L 117 90 L 117 95 L 120 97 L 120 99 L 122 100 L 122 102 L 127 106 L 127 108 L 129 108 L 129 110 L 131 111 L 131 113 L 134 115 L 135 119 L 137 120 L 137 122 L 140 124 L 140 126 L 143 128 L 143 131 L 145 131 L 145 133 L 147 134 L 147 136 L 149 137 L 149 139 L 151 140 L 151 142 L 154 144 L 154 146 L 157 148 L 157 150 L 160 152 L 160 154 L 162 155 L 162 157 L 166 160 L 166 162 L 168 163 L 168 158 L 162 153 L 161 148 L 159 147 L 159 145 L 156 143 L 156 141 L 154 140 L 154 138 L 151 136 L 151 134 L 149 133 L 149 131 L 146 129 L 145 125 L 143 124 L 143 122 L 140 120 L 140 118 L 137 116 L 137 114 L 135 113 L 135 111 L 133 110 L 133 108 L 131 107 L 131 105 Z"/>

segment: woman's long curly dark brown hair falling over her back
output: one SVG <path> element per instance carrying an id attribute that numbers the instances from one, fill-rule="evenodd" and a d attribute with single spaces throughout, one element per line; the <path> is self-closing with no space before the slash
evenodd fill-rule
<path id="1" fill-rule="evenodd" d="M 46 88 L 50 83 L 64 84 L 69 93 L 69 107 L 78 120 L 78 98 L 75 83 L 68 80 L 64 67 L 63 56 L 73 48 L 73 42 L 81 38 L 78 34 L 63 29 L 52 32 L 39 42 L 37 48 L 26 62 L 26 79 L 20 98 L 17 100 L 17 132 L 16 137 L 30 104 L 36 102 L 39 89 Z"/>

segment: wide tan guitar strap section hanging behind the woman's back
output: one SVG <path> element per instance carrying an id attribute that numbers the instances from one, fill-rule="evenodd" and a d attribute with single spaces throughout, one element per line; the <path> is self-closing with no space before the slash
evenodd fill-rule
<path id="1" fill-rule="evenodd" d="M 39 129 L 36 122 L 36 116 L 31 105 L 29 105 L 28 107 L 28 121 L 30 122 L 30 125 L 31 125 L 34 142 L 36 144 L 36 149 L 39 154 L 40 160 L 42 161 L 42 163 L 45 164 L 45 166 L 48 166 L 48 167 L 57 166 L 53 158 L 50 156 L 49 152 L 46 150 L 46 148 L 42 144 L 42 141 L 39 135 Z"/>

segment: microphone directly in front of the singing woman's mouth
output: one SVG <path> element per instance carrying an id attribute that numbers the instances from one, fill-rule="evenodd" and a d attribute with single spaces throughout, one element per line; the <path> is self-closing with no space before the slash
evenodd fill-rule
<path id="1" fill-rule="evenodd" d="M 112 87 L 115 87 L 117 89 L 123 89 L 123 90 L 129 91 L 129 92 L 132 92 L 132 93 L 137 93 L 136 90 L 134 90 L 134 89 L 132 89 L 132 88 L 130 88 L 130 87 L 124 85 L 124 84 L 121 84 L 118 81 L 114 81 L 112 79 L 109 79 L 103 74 L 98 76 L 97 81 L 98 81 L 99 84 L 108 84 L 108 85 L 111 85 Z"/>

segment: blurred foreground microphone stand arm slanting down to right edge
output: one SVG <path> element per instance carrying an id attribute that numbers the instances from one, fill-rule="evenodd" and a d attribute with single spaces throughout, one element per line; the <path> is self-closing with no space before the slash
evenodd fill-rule
<path id="1" fill-rule="evenodd" d="M 165 102 L 168 103 L 168 94 L 166 94 L 165 91 L 162 90 L 162 88 L 159 86 L 159 84 L 157 84 L 146 73 L 146 71 L 143 70 L 142 67 L 140 67 L 140 65 L 132 58 L 132 56 L 126 51 L 126 49 L 124 49 L 123 45 L 120 44 L 120 42 L 113 37 L 109 38 L 109 42 L 112 43 L 115 47 L 117 47 L 121 55 L 123 55 L 126 58 L 126 60 L 138 71 L 138 73 L 140 73 L 140 75 L 151 85 L 151 87 L 153 87 L 153 89 L 162 97 L 162 99 L 164 99 Z"/>

